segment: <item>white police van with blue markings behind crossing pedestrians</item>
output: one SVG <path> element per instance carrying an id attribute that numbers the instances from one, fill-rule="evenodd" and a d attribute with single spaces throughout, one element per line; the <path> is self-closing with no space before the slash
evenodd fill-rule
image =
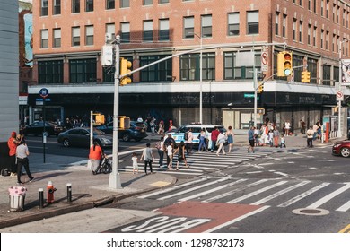
<path id="1" fill-rule="evenodd" d="M 175 140 L 177 144 L 179 144 L 181 141 L 186 143 L 185 140 L 185 133 L 188 132 L 188 129 L 192 129 L 192 134 L 193 134 L 193 144 L 199 144 L 199 139 L 198 135 L 200 134 L 201 130 L 205 130 L 206 132 L 206 138 L 209 140 L 208 143 L 208 148 L 212 145 L 212 140 L 211 140 L 211 134 L 214 131 L 214 128 L 217 127 L 219 128 L 220 131 L 223 131 L 223 133 L 226 132 L 226 129 L 223 127 L 223 125 L 205 125 L 205 124 L 188 124 L 188 125 L 181 125 L 179 126 L 178 129 L 175 131 L 166 133 L 164 136 L 164 140 L 167 139 L 168 134 L 171 134 L 171 137 Z"/>

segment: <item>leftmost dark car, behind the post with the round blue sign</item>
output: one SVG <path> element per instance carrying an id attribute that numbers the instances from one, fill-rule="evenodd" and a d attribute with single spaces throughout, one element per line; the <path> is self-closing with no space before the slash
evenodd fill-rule
<path id="1" fill-rule="evenodd" d="M 58 135 L 64 131 L 64 128 L 61 125 L 57 125 L 54 122 L 45 121 L 45 132 L 47 132 L 48 136 L 50 135 Z M 33 135 L 42 135 L 44 132 L 44 122 L 36 121 L 31 125 L 26 125 L 22 128 L 22 133 L 25 135 L 33 134 Z"/>

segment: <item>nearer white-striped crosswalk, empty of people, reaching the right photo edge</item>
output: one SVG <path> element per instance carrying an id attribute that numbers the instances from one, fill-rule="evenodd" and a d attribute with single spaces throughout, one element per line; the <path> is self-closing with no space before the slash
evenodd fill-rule
<path id="1" fill-rule="evenodd" d="M 278 208 L 326 209 L 350 212 L 350 183 L 310 180 L 235 179 L 199 177 L 145 195 L 141 199 L 200 201 L 202 203 L 242 203 Z"/>

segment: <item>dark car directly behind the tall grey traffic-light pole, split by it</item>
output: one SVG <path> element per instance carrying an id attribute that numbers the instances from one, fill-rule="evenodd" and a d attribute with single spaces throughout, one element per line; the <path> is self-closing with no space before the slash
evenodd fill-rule
<path id="1" fill-rule="evenodd" d="M 113 122 L 109 122 L 106 125 L 101 125 L 96 128 L 103 131 L 106 134 L 113 134 Z M 146 128 L 144 126 L 144 123 L 142 122 L 130 121 L 129 128 L 119 128 L 118 130 L 118 138 L 122 139 L 125 142 L 128 142 L 130 140 L 135 140 L 136 142 L 139 142 L 147 136 L 148 134 L 146 133 Z"/>

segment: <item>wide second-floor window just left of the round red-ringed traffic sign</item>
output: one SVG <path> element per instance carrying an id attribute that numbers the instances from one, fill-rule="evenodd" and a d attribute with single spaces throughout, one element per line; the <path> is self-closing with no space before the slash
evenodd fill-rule
<path id="1" fill-rule="evenodd" d="M 240 52 L 245 53 L 245 52 Z M 247 52 L 249 55 L 251 52 Z M 259 71 L 261 69 L 261 55 L 260 52 L 255 53 L 255 67 Z M 225 80 L 232 79 L 253 79 L 254 65 L 240 65 L 236 61 L 235 52 L 226 52 L 223 58 L 223 78 Z"/>

